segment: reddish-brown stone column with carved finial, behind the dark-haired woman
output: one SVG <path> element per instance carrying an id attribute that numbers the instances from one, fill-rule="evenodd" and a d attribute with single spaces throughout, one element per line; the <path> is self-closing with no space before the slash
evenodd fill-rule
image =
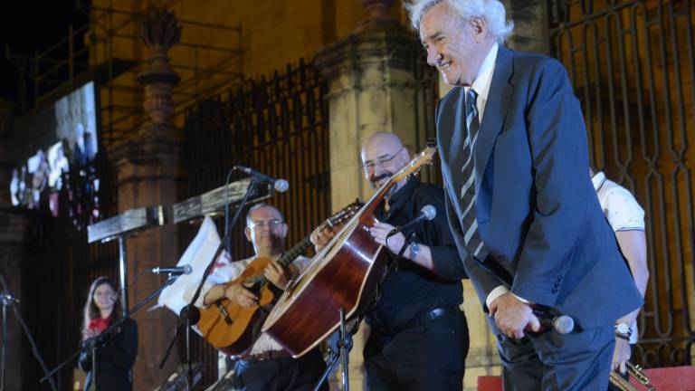
<path id="1" fill-rule="evenodd" d="M 170 118 L 173 110 L 172 93 L 179 77 L 169 66 L 167 52 L 179 42 L 181 27 L 172 12 L 150 8 L 143 23 L 143 41 L 150 55 L 147 68 L 138 74 L 145 88 L 143 107 L 148 121 L 138 129 L 137 136 L 109 150 L 109 157 L 118 171 L 119 212 L 138 206 L 173 205 L 176 197 L 176 177 L 179 175 L 180 130 Z M 173 265 L 178 259 L 176 226 L 167 224 L 129 237 L 129 276 L 156 267 Z M 165 277 L 146 275 L 129 291 L 133 306 L 155 291 Z M 141 310 L 138 321 L 138 360 L 133 369 L 134 389 L 153 389 L 160 386 L 176 364 L 176 353 L 167 367 L 157 364 L 171 336 L 176 316 L 169 310 Z"/>

